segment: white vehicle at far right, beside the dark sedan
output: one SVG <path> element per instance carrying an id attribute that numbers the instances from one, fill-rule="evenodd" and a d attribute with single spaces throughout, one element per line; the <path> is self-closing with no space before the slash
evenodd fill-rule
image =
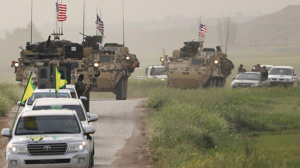
<path id="1" fill-rule="evenodd" d="M 300 80 L 300 76 L 292 66 L 274 66 L 270 70 L 268 78 L 271 87 L 277 85 L 296 87 Z"/>

